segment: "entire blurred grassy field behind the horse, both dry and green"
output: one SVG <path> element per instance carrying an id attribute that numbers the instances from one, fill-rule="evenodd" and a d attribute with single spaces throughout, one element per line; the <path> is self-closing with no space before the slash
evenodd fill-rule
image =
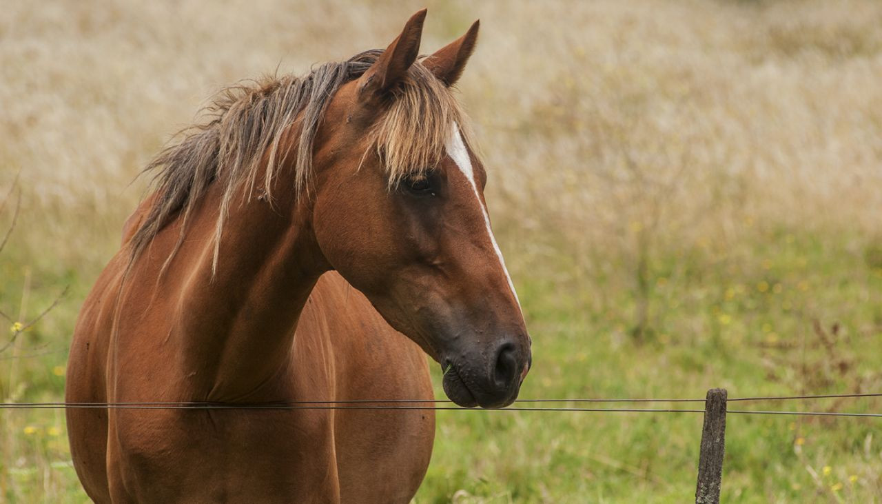
<path id="1" fill-rule="evenodd" d="M 482 22 L 460 98 L 534 338 L 522 398 L 882 392 L 882 3 L 11 0 L 0 398 L 63 396 L 135 177 L 209 96 L 385 47 L 423 6 L 425 53 Z M 416 502 L 695 491 L 700 415 L 441 413 Z M 729 417 L 722 498 L 882 500 L 878 427 Z M 0 500 L 86 501 L 63 411 L 0 411 Z"/>

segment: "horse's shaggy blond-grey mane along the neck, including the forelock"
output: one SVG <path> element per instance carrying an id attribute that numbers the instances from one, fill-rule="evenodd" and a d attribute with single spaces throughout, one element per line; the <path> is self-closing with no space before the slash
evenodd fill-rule
<path id="1" fill-rule="evenodd" d="M 363 75 L 382 52 L 372 49 L 343 62 L 322 64 L 305 77 L 265 77 L 221 90 L 203 109 L 203 122 L 179 132 L 179 140 L 165 147 L 144 169 L 154 174 L 155 196 L 129 242 L 131 260 L 137 259 L 161 229 L 181 219 L 180 237 L 168 257 L 171 260 L 183 243 L 187 220 L 198 200 L 209 186 L 222 184 L 214 237 L 213 266 L 217 267 L 221 232 L 236 195 L 250 199 L 263 173 L 262 192 L 272 201 L 273 177 L 282 166 L 295 170 L 295 194 L 299 197 L 307 191 L 313 146 L 328 103 L 340 86 Z M 440 161 L 453 123 L 460 125 L 463 135 L 470 136 L 459 102 L 419 61 L 411 65 L 407 79 L 392 94 L 384 116 L 366 132 L 391 186 Z M 292 127 L 299 129 L 291 142 L 296 145 L 281 145 Z M 292 150 L 295 158 L 286 163 Z M 265 154 L 268 162 L 261 162 Z"/>

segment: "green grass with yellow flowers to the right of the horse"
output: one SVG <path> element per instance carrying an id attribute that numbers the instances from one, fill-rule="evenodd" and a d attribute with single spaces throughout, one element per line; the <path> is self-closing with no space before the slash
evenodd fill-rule
<path id="1" fill-rule="evenodd" d="M 882 272 L 848 252 L 841 238 L 757 238 L 741 245 L 753 252 L 743 259 L 714 260 L 695 250 L 684 252 L 688 260 L 658 260 L 643 341 L 630 332 L 629 290 L 519 275 L 534 336 L 534 367 L 521 397 L 704 397 L 710 387 L 726 387 L 731 397 L 882 390 Z M 670 275 L 684 260 L 684 273 Z M 569 266 L 563 258 L 553 264 Z M 730 409 L 748 406 L 879 411 L 871 400 Z M 417 501 L 683 502 L 695 491 L 701 422 L 700 414 L 686 413 L 442 411 Z M 878 500 L 882 461 L 874 432 L 872 418 L 730 415 L 723 501 Z"/>

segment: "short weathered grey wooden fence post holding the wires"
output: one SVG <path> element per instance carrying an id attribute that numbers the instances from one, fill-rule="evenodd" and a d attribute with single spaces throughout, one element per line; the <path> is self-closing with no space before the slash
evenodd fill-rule
<path id="1" fill-rule="evenodd" d="M 705 425 L 701 429 L 699 483 L 696 504 L 719 504 L 722 455 L 726 451 L 726 389 L 711 388 L 705 400 Z"/>

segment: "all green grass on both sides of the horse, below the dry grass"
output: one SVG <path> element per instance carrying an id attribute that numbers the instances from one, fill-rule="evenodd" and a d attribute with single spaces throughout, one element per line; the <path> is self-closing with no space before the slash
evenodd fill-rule
<path id="1" fill-rule="evenodd" d="M 730 397 L 882 390 L 882 269 L 876 245 L 863 237 L 753 230 L 734 244 L 649 251 L 640 336 L 639 282 L 628 261 L 595 258 L 587 269 L 562 252 L 572 249 L 564 241 L 548 245 L 542 250 L 553 252 L 542 257 L 508 247 L 534 338 L 522 398 L 704 397 L 709 387 L 726 387 Z M 41 267 L 27 273 L 29 263 Z M 4 312 L 16 312 L 23 294 L 27 312 L 37 312 L 71 285 L 58 309 L 21 335 L 19 358 L 9 358 L 11 350 L 0 356 L 7 400 L 62 395 L 65 348 L 98 266 L 51 264 L 14 245 L 0 255 Z M 433 367 L 439 384 L 441 370 Z M 437 395 L 443 397 L 440 387 Z M 867 399 L 738 408 L 748 406 L 880 410 Z M 0 415 L 5 499 L 83 501 L 63 413 Z M 689 500 L 701 422 L 692 413 L 440 411 L 416 501 Z M 730 415 L 723 500 L 878 500 L 882 448 L 875 432 L 871 418 Z"/>

